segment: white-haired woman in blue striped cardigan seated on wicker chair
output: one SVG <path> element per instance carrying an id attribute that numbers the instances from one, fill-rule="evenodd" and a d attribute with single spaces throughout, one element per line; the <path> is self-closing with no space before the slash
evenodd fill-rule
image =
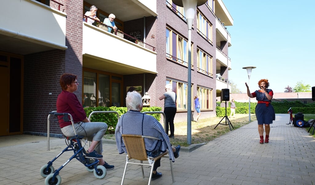
<path id="1" fill-rule="evenodd" d="M 174 162 L 174 158 L 179 156 L 180 145 L 172 147 L 169 142 L 169 137 L 165 133 L 161 123 L 152 115 L 146 115 L 140 112 L 143 107 L 141 95 L 136 91 L 128 92 L 126 105 L 128 112 L 119 118 L 115 130 L 116 144 L 119 154 L 127 153 L 122 140 L 122 134 L 152 136 L 161 138 L 162 143 L 159 144 L 159 142 L 155 142 L 155 140 L 145 138 L 148 156 L 156 157 L 161 152 L 165 152 L 166 149 L 169 149 L 169 158 Z M 157 160 L 153 166 L 152 180 L 162 176 L 162 173 L 157 172 L 157 168 L 160 166 L 160 160 L 161 159 Z"/>

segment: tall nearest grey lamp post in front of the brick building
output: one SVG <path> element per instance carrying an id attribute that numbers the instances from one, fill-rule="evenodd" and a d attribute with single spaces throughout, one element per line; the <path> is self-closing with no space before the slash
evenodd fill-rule
<path id="1" fill-rule="evenodd" d="M 203 5 L 207 0 L 173 0 L 177 6 L 184 7 L 188 26 L 188 79 L 187 79 L 187 144 L 192 144 L 192 23 L 197 6 Z"/>

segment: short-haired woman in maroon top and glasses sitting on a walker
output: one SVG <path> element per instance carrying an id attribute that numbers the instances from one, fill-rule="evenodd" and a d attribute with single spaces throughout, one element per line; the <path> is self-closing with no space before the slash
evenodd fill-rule
<path id="1" fill-rule="evenodd" d="M 79 102 L 74 92 L 78 89 L 79 83 L 77 76 L 65 73 L 60 76 L 61 93 L 57 98 L 57 112 L 68 113 L 72 115 L 73 122 L 77 135 L 84 136 L 91 145 L 86 150 L 85 155 L 87 158 L 98 158 L 99 165 L 103 165 L 107 170 L 114 169 L 113 165 L 109 165 L 103 160 L 103 143 L 102 138 L 107 130 L 107 124 L 103 122 L 90 122 L 83 109 L 82 104 Z M 66 137 L 73 137 L 75 135 L 71 121 L 64 121 L 61 116 L 59 118 L 59 126 L 61 132 Z"/>

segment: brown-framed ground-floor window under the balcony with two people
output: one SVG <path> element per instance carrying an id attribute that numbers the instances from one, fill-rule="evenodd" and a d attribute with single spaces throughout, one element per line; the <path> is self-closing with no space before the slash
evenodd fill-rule
<path id="1" fill-rule="evenodd" d="M 85 107 L 122 105 L 123 76 L 83 69 L 83 105 Z"/>

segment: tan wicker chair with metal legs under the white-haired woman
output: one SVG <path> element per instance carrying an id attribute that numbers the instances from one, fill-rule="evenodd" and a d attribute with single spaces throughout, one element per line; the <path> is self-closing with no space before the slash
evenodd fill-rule
<path id="1" fill-rule="evenodd" d="M 148 183 L 148 185 L 149 185 L 151 182 L 152 171 L 153 171 L 153 166 L 154 166 L 155 161 L 160 159 L 163 156 L 169 158 L 168 151 L 160 154 L 159 156 L 157 156 L 155 158 L 148 157 L 146 154 L 146 146 L 145 146 L 144 138 L 151 138 L 151 139 L 157 139 L 157 140 L 159 140 L 159 138 L 150 137 L 150 136 L 132 135 L 132 134 L 123 134 L 122 136 L 123 136 L 124 144 L 125 144 L 126 149 L 127 149 L 127 155 L 126 155 L 126 165 L 125 165 L 125 169 L 123 171 L 123 179 L 121 181 L 121 185 L 123 185 L 123 181 L 125 178 L 128 164 L 141 165 L 142 178 L 144 178 L 143 165 L 151 166 L 149 183 Z M 167 156 L 165 156 L 165 155 L 167 155 Z M 129 162 L 129 159 L 140 160 L 140 163 Z M 144 160 L 148 160 L 149 164 L 144 164 L 143 163 Z M 172 160 L 169 160 L 169 162 L 171 165 L 172 180 L 174 183 L 175 180 L 174 180 Z"/>

